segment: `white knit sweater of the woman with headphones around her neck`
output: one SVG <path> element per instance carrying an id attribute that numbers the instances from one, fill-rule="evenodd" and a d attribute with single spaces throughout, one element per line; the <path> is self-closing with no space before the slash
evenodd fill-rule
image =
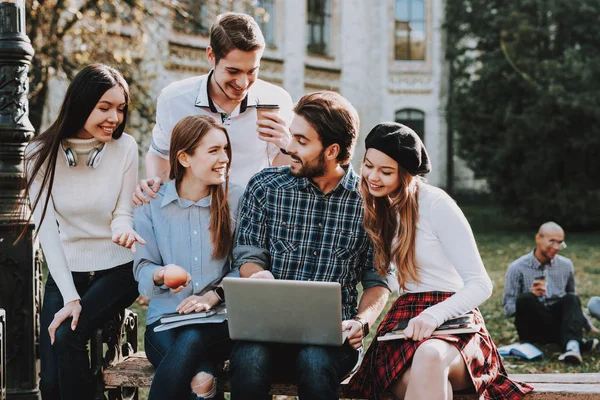
<path id="1" fill-rule="evenodd" d="M 71 272 L 101 271 L 133 260 L 131 250 L 113 243 L 111 237 L 118 228 L 133 227 L 131 194 L 137 184 L 137 144 L 124 133 L 106 143 L 100 164 L 90 168 L 85 165 L 87 155 L 99 144 L 96 139 L 66 140 L 65 147 L 77 153 L 77 166 L 72 168 L 59 149 L 48 209 L 37 227 L 48 269 L 65 304 L 80 298 Z M 34 148 L 27 147 L 26 158 Z M 32 163 L 27 167 L 31 174 Z M 42 173 L 31 185 L 31 204 L 40 192 Z M 45 189 L 33 210 L 35 221 L 40 221 L 46 195 Z"/>

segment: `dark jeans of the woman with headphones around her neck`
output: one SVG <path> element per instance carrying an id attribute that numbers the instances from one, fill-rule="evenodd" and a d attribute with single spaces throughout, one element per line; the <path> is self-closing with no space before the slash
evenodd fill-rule
<path id="1" fill-rule="evenodd" d="M 40 328 L 40 391 L 44 400 L 92 398 L 87 342 L 96 328 L 138 296 L 132 265 L 130 262 L 104 271 L 72 273 L 81 297 L 79 323 L 72 331 L 72 318 L 66 319 L 56 330 L 54 345 L 50 344 L 48 326 L 64 304 L 56 282 L 48 276 Z"/>

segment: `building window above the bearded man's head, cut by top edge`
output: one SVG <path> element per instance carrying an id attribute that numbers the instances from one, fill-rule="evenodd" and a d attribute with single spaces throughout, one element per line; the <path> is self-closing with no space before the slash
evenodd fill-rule
<path id="1" fill-rule="evenodd" d="M 307 50 L 309 53 L 331 53 L 331 0 L 308 0 Z"/>

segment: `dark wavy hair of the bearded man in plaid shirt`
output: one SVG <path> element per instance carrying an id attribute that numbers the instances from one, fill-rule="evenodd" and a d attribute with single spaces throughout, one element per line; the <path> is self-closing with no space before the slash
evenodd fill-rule
<path id="1" fill-rule="evenodd" d="M 348 100 L 335 92 L 321 91 L 304 96 L 294 112 L 304 118 L 319 134 L 323 147 L 340 146 L 337 161 L 348 164 L 359 134 L 360 120 Z"/>

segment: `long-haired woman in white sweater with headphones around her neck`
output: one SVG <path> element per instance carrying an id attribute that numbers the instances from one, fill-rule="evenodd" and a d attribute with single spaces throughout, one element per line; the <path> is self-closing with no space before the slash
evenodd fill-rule
<path id="1" fill-rule="evenodd" d="M 48 264 L 40 338 L 40 391 L 91 399 L 87 341 L 137 297 L 131 193 L 135 140 L 123 133 L 129 87 L 93 64 L 74 78 L 58 118 L 25 152 L 26 189 Z"/>

